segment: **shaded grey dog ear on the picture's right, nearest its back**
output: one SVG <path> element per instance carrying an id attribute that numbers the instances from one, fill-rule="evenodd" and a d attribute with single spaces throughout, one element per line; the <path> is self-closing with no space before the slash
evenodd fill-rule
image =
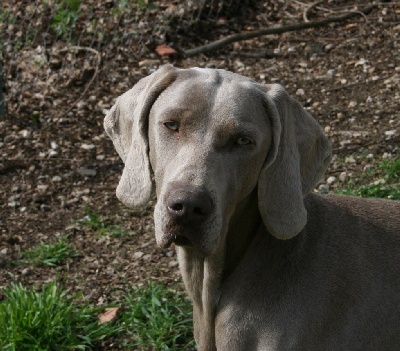
<path id="1" fill-rule="evenodd" d="M 315 119 L 278 84 L 260 85 L 272 142 L 258 183 L 259 209 L 269 232 L 290 239 L 307 223 L 304 197 L 317 185 L 331 147 Z"/>

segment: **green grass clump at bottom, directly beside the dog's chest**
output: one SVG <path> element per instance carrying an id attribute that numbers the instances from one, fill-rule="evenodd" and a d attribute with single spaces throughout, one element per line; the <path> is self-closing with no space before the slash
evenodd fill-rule
<path id="1" fill-rule="evenodd" d="M 191 303 L 164 284 L 149 283 L 125 295 L 121 316 L 125 333 L 133 339 L 128 347 L 143 350 L 190 350 L 194 348 Z"/>

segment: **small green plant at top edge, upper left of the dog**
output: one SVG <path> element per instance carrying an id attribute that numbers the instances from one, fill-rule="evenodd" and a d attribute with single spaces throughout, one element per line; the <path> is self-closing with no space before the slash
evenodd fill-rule
<path id="1" fill-rule="evenodd" d="M 75 28 L 79 15 L 80 0 L 61 0 L 58 1 L 57 12 L 51 22 L 57 35 L 63 36 L 72 32 Z"/>

